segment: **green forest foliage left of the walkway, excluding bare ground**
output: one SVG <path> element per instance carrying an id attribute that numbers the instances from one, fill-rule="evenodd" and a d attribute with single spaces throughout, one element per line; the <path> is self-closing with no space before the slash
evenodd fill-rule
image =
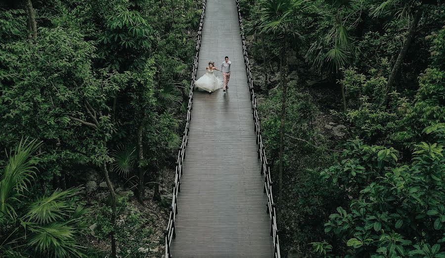
<path id="1" fill-rule="evenodd" d="M 43 142 L 36 147 L 38 159 L 30 159 L 17 173 L 23 181 L 10 176 L 15 170 L 5 168 L 9 176 L 0 183 L 0 235 L 10 237 L 1 244 L 0 256 L 105 256 L 79 237 L 86 219 L 74 203 L 84 201 L 77 197 L 77 188 L 70 187 L 86 183 L 85 174 L 98 167 L 129 178 L 135 168 L 143 167 L 155 179 L 172 165 L 181 142 L 178 130 L 183 102 L 188 101 L 187 77 L 201 4 L 198 0 L 33 1 L 35 42 L 26 38 L 23 10 L 0 10 L 0 146 L 14 148 L 23 136 Z M 139 149 L 132 147 L 140 128 L 143 158 L 136 160 Z M 110 178 L 116 187 L 125 184 L 117 175 Z M 32 203 L 23 200 L 27 187 L 29 196 L 36 196 Z M 122 214 L 130 208 L 123 206 Z M 130 230 L 151 230 L 145 228 L 142 214 L 128 218 L 135 225 Z M 105 220 L 109 230 L 115 228 L 110 217 L 104 217 L 104 224 Z M 122 255 L 144 255 L 145 249 L 130 246 L 134 234 L 129 232 L 117 235 Z M 14 242 L 18 235 L 23 239 Z M 149 239 L 154 233 L 142 235 Z M 146 239 L 141 243 L 147 246 Z M 26 248 L 18 249 L 20 245 Z"/>

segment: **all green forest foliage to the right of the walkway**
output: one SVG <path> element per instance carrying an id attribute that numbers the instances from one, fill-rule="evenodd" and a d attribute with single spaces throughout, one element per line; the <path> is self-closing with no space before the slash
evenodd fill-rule
<path id="1" fill-rule="evenodd" d="M 272 175 L 278 162 L 281 92 L 275 86 L 283 71 L 276 68 L 284 60 L 283 32 L 300 39 L 286 53 L 293 76 L 285 122 L 287 196 L 279 205 L 281 255 L 443 257 L 444 5 L 320 0 L 292 12 L 295 2 L 240 1 Z M 422 17 L 397 85 L 382 106 L 388 76 L 418 10 Z M 266 67 L 259 64 L 264 55 Z M 335 82 L 345 89 L 344 112 L 326 96 L 340 95 L 325 89 Z M 332 120 L 346 127 L 344 136 L 332 135 Z M 345 149 L 337 155 L 339 147 Z"/>

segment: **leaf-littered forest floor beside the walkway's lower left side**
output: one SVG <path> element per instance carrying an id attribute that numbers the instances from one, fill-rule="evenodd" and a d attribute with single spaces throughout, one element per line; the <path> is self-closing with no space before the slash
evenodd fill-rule
<path id="1" fill-rule="evenodd" d="M 110 238 L 107 237 L 106 223 L 101 220 L 103 209 L 109 209 L 107 199 L 108 190 L 101 182 L 101 177 L 97 172 L 92 172 L 87 178 L 88 194 L 85 197 L 87 207 L 90 209 L 91 222 L 89 224 L 87 241 L 89 248 L 98 257 L 107 257 L 111 250 Z M 145 198 L 140 203 L 134 196 L 133 188 L 129 186 L 129 181 L 121 179 L 114 180 L 115 190 L 118 198 L 126 197 L 123 206 L 118 207 L 116 247 L 117 253 L 132 254 L 132 257 L 160 258 L 164 256 L 164 230 L 167 225 L 171 205 L 172 189 L 167 185 L 172 185 L 174 181 L 174 171 L 166 171 L 163 175 L 160 193 L 162 200 L 153 200 L 154 184 L 145 187 Z M 97 188 L 88 188 L 91 182 L 97 184 Z M 125 207 L 125 208 L 124 208 Z M 120 209 L 119 209 L 120 208 Z M 104 224 L 101 224 L 103 222 Z M 105 235 L 105 237 L 104 237 Z M 126 241 L 120 241 L 120 236 Z M 126 236 L 126 237 L 123 237 Z M 122 256 L 121 257 L 125 257 Z"/>

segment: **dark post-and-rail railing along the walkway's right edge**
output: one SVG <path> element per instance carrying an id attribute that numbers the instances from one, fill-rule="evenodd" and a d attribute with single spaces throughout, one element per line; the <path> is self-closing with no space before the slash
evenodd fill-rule
<path id="1" fill-rule="evenodd" d="M 247 55 L 246 37 L 244 36 L 243 21 L 241 17 L 241 10 L 239 7 L 239 0 L 235 0 L 238 9 L 238 23 L 241 29 L 241 39 L 243 45 L 244 64 L 247 71 L 247 82 L 250 91 L 250 100 L 252 102 L 253 120 L 255 121 L 255 132 L 257 134 L 258 144 L 258 158 L 261 160 L 261 175 L 264 175 L 264 192 L 267 193 L 267 209 L 266 212 L 270 217 L 270 236 L 273 237 L 274 257 L 280 258 L 280 241 L 278 237 L 278 228 L 276 224 L 276 205 L 273 201 L 272 195 L 272 178 L 270 176 L 270 167 L 267 163 L 266 150 L 263 145 L 263 138 L 261 136 L 261 119 L 257 110 L 257 99 L 253 88 L 252 72 L 250 69 L 249 57 Z"/>

